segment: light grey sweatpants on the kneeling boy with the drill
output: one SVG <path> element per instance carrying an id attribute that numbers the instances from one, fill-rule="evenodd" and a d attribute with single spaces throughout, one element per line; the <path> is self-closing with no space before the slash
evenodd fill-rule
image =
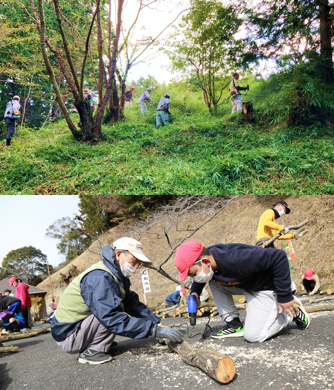
<path id="1" fill-rule="evenodd" d="M 261 343 L 269 339 L 293 320 L 284 310 L 279 314 L 274 291 L 246 291 L 237 287 L 220 286 L 213 280 L 209 282 L 209 286 L 223 321 L 228 322 L 239 317 L 232 295 L 245 295 L 247 315 L 244 338 L 251 343 Z"/>

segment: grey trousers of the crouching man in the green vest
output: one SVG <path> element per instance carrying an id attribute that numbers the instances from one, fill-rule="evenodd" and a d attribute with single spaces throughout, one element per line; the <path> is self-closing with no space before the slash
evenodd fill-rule
<path id="1" fill-rule="evenodd" d="M 108 352 L 116 335 L 109 332 L 100 322 L 90 315 L 82 321 L 79 328 L 65 340 L 57 341 L 60 349 L 67 354 L 78 354 L 87 348 Z"/>

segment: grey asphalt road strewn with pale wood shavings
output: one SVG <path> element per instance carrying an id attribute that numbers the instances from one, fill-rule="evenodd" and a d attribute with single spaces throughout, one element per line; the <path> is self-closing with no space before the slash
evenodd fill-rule
<path id="1" fill-rule="evenodd" d="M 305 299 L 304 299 L 305 302 Z M 240 311 L 241 318 L 246 315 Z M 294 323 L 263 343 L 251 344 L 243 337 L 224 340 L 200 336 L 186 339 L 197 347 L 211 346 L 231 357 L 236 375 L 221 384 L 200 369 L 182 362 L 168 347 L 147 339 L 116 337 L 114 361 L 80 364 L 78 355 L 61 352 L 50 334 L 4 343 L 18 345 L 19 352 L 0 355 L 0 390 L 98 390 L 98 389 L 270 389 L 334 390 L 334 312 L 310 314 L 308 329 Z M 166 325 L 188 323 L 185 318 L 165 319 Z M 208 318 L 197 320 L 203 332 Z M 210 321 L 219 330 L 218 316 Z"/>

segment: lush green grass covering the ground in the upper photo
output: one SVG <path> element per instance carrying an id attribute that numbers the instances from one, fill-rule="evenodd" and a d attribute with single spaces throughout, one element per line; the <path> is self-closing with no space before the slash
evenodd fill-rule
<path id="1" fill-rule="evenodd" d="M 334 193 L 330 128 L 245 125 L 229 114 L 174 116 L 173 124 L 156 129 L 154 108 L 142 117 L 134 103 L 126 122 L 103 127 L 104 140 L 97 145 L 76 142 L 64 121 L 24 129 L 14 147 L 0 142 L 0 191 Z"/>

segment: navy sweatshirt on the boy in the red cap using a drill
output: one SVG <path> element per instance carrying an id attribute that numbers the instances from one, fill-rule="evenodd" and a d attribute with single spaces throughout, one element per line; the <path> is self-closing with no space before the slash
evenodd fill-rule
<path id="1" fill-rule="evenodd" d="M 293 300 L 287 255 L 282 249 L 260 248 L 245 244 L 209 246 L 218 269 L 213 282 L 247 291 L 275 291 L 277 302 Z M 192 284 L 191 292 L 201 294 L 205 283 Z"/>

